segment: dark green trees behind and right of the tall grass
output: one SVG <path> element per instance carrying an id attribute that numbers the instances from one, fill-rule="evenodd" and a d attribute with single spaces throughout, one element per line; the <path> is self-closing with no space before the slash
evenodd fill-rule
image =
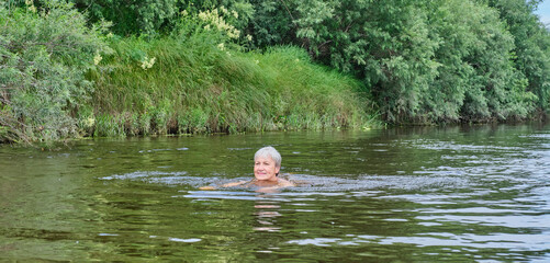
<path id="1" fill-rule="evenodd" d="M 148 1 L 157 7 L 150 12 L 169 18 L 151 14 L 164 19 L 145 26 L 156 20 L 124 12 L 142 22 L 121 22 L 134 30 L 119 33 L 181 30 L 178 13 L 235 12 L 224 16 L 240 33 L 233 43 L 305 48 L 314 61 L 361 79 L 388 122 L 523 119 L 549 107 L 549 32 L 532 13 L 539 0 Z M 123 5 L 89 2 L 106 10 Z"/>

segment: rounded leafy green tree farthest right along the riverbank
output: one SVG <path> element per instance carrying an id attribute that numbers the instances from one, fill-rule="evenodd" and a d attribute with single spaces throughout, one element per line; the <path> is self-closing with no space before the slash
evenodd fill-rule
<path id="1" fill-rule="evenodd" d="M 445 4 L 444 4 L 445 3 Z M 425 103 L 433 121 L 521 119 L 535 95 L 514 68 L 514 38 L 497 13 L 469 1 L 431 2 L 431 37 L 440 65 Z"/>

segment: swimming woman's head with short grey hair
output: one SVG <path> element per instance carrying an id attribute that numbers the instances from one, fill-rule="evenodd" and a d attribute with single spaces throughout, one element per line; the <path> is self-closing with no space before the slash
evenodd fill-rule
<path id="1" fill-rule="evenodd" d="M 281 155 L 273 147 L 268 146 L 259 149 L 254 155 L 254 176 L 257 180 L 277 181 L 281 161 Z"/>

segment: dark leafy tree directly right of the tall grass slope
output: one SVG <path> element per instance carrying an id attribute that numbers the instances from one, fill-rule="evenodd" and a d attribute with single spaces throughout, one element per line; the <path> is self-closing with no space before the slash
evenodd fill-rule
<path id="1" fill-rule="evenodd" d="M 318 61 L 361 78 L 385 119 L 416 116 L 437 68 L 424 10 L 404 0 L 292 3 L 296 44 Z"/>

